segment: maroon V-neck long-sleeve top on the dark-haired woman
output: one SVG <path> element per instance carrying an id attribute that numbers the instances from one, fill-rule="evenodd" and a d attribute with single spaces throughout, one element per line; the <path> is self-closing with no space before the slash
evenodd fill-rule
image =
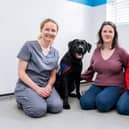
<path id="1" fill-rule="evenodd" d="M 100 48 L 94 50 L 89 68 L 81 75 L 82 79 L 91 81 L 96 73 L 93 84 L 98 86 L 125 86 L 125 67 L 127 65 L 127 52 L 116 47 L 113 54 L 104 59 Z"/>

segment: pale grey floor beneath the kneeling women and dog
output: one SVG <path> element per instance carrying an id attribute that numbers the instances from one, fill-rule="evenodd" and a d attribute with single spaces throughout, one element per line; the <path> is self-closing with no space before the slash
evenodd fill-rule
<path id="1" fill-rule="evenodd" d="M 129 129 L 129 116 L 116 111 L 100 113 L 80 109 L 77 99 L 70 99 L 71 110 L 30 118 L 17 109 L 15 98 L 0 98 L 1 129 Z"/>

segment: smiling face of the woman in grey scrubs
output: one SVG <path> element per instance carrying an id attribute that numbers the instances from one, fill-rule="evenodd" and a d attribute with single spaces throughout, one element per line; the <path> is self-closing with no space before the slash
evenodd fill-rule
<path id="1" fill-rule="evenodd" d="M 44 42 L 52 43 L 57 35 L 58 27 L 55 23 L 49 21 L 44 24 L 40 31 Z"/>

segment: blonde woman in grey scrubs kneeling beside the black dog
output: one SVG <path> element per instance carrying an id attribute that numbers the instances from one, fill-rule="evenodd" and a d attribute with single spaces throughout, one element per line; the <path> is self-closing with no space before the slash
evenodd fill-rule
<path id="1" fill-rule="evenodd" d="M 18 53 L 19 79 L 15 96 L 18 107 L 30 117 L 58 113 L 63 109 L 62 100 L 53 87 L 59 54 L 52 43 L 57 32 L 58 24 L 54 20 L 44 20 L 38 40 L 27 41 Z"/>

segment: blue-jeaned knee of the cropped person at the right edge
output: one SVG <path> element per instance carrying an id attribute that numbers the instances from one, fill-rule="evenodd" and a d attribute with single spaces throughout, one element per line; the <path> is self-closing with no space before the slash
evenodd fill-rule
<path id="1" fill-rule="evenodd" d="M 129 91 L 125 91 L 117 102 L 118 113 L 129 115 Z"/>

